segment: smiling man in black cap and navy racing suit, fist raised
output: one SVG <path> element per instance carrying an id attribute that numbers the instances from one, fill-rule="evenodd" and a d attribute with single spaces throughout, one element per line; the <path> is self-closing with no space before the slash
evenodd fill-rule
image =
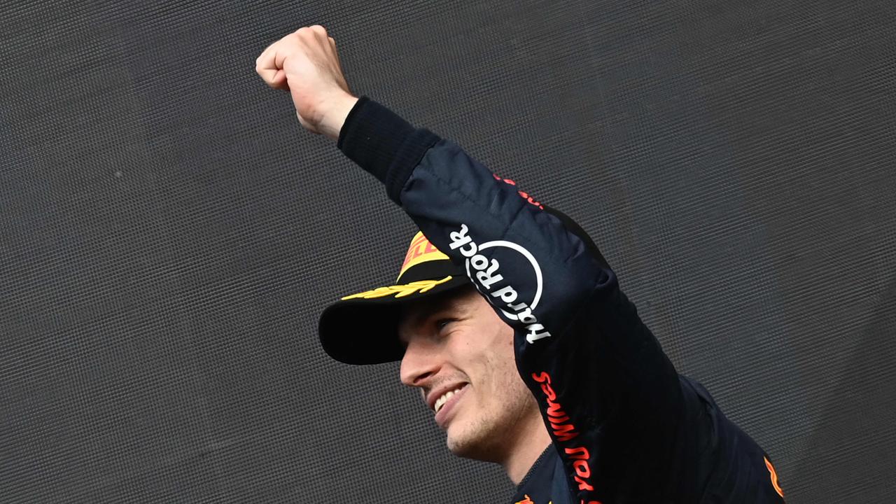
<path id="1" fill-rule="evenodd" d="M 448 447 L 503 465 L 513 502 L 783 501 L 768 456 L 676 373 L 574 222 L 353 96 L 321 26 L 265 49 L 256 71 L 422 231 L 394 285 L 324 310 L 333 358 L 401 360 Z"/>

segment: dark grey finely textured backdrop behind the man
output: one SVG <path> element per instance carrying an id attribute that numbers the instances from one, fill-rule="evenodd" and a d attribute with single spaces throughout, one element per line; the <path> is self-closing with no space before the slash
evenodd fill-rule
<path id="1" fill-rule="evenodd" d="M 789 502 L 896 498 L 890 0 L 5 0 L 0 500 L 509 498 L 316 341 L 413 228 L 254 74 L 315 23 L 589 230 Z"/>

